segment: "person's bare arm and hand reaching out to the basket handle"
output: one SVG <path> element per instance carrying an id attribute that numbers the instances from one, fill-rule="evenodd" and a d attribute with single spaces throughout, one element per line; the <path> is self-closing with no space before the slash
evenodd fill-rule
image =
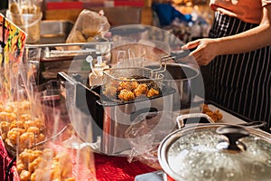
<path id="1" fill-rule="evenodd" d="M 216 56 L 221 54 L 234 54 L 249 52 L 271 45 L 271 5 L 263 8 L 261 23 L 244 33 L 210 39 L 204 38 L 187 43 L 182 49 L 193 49 L 193 56 L 200 65 L 210 63 Z"/>

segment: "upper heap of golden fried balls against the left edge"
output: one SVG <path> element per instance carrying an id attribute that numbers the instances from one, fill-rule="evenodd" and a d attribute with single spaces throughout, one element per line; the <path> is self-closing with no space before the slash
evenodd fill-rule
<path id="1" fill-rule="evenodd" d="M 31 113 L 29 101 L 11 101 L 5 106 L 1 102 L 0 106 L 0 133 L 10 151 L 18 148 L 21 152 L 45 140 L 45 123 Z"/>

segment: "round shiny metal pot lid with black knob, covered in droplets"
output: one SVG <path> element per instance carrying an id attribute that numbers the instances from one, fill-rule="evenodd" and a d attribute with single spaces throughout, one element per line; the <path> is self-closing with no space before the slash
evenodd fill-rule
<path id="1" fill-rule="evenodd" d="M 158 159 L 175 180 L 270 180 L 271 136 L 259 129 L 206 124 L 162 141 Z"/>

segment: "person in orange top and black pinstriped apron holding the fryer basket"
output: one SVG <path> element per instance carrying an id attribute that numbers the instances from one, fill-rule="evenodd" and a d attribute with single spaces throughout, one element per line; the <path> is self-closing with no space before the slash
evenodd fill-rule
<path id="1" fill-rule="evenodd" d="M 271 0 L 210 0 L 210 38 L 185 44 L 207 65 L 206 97 L 249 119 L 271 122 Z M 204 67 L 205 69 L 205 67 Z M 208 81 L 208 82 L 207 82 Z"/>

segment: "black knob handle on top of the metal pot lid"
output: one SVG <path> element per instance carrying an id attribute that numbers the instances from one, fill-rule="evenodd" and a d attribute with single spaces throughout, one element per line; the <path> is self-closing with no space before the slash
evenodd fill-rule
<path id="1" fill-rule="evenodd" d="M 249 132 L 247 129 L 236 125 L 229 125 L 220 127 L 216 132 L 220 135 L 224 135 L 229 140 L 228 146 L 223 149 L 230 151 L 242 151 L 247 149 L 245 144 L 238 141 L 239 138 L 248 137 Z"/>

